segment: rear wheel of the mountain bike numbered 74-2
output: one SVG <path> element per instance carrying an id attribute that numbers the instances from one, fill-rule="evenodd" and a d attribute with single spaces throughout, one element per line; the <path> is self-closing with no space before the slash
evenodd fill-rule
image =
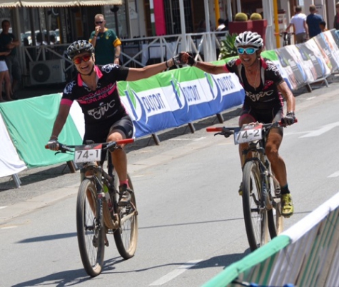
<path id="1" fill-rule="evenodd" d="M 279 191 L 278 191 L 279 190 Z M 280 185 L 278 181 L 270 177 L 270 193 L 274 195 L 273 208 L 268 211 L 268 231 L 270 238 L 274 238 L 283 232 L 283 215 L 281 214 Z"/>

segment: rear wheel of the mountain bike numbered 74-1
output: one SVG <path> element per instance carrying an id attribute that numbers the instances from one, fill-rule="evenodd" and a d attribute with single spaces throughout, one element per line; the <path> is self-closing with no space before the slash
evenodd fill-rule
<path id="1" fill-rule="evenodd" d="M 115 171 L 114 171 L 115 172 Z M 118 190 L 118 175 L 115 173 L 115 184 Z M 136 211 L 136 193 L 133 188 L 131 178 L 128 176 L 128 183 L 133 190 L 131 205 L 118 206 L 118 195 L 114 199 L 115 210 L 119 213 L 120 226 L 114 231 L 114 241 L 119 254 L 125 258 L 131 258 L 136 253 L 138 242 L 138 211 Z"/>

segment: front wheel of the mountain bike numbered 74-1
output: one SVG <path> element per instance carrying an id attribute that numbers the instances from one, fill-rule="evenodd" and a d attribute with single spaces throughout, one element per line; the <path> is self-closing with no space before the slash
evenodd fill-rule
<path id="1" fill-rule="evenodd" d="M 85 178 L 79 187 L 76 200 L 76 230 L 84 268 L 89 276 L 98 276 L 103 268 L 105 233 L 102 209 L 96 201 L 96 186 L 88 178 Z"/>

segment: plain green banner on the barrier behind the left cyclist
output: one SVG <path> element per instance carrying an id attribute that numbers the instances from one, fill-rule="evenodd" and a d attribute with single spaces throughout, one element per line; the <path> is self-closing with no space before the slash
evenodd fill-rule
<path id="1" fill-rule="evenodd" d="M 73 160 L 73 155 L 59 153 L 55 156 L 55 152 L 44 147 L 51 136 L 60 100 L 59 94 L 51 94 L 0 105 L 1 115 L 16 151 L 28 168 Z M 64 144 L 82 143 L 71 116 L 59 135 L 59 141 Z"/>

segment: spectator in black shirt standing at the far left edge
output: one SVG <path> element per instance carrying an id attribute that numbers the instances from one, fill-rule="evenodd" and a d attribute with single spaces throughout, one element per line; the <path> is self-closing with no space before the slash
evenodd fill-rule
<path id="1" fill-rule="evenodd" d="M 0 46 L 11 51 L 5 60 L 9 69 L 9 75 L 11 76 L 11 96 L 13 96 L 16 85 L 21 81 L 20 64 L 16 58 L 16 47 L 20 46 L 20 41 L 16 39 L 14 34 L 9 33 L 10 26 L 11 23 L 9 20 L 3 20 L 1 22 L 2 32 L 0 34 Z"/>

